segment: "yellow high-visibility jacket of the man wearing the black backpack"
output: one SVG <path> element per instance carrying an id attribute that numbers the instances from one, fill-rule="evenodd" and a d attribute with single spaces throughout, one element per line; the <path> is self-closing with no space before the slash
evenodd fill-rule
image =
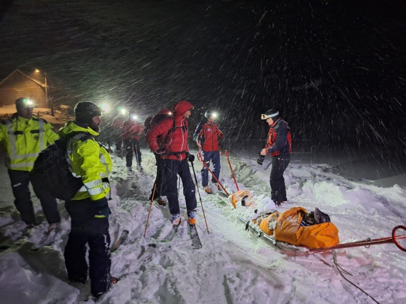
<path id="1" fill-rule="evenodd" d="M 110 185 L 106 180 L 113 162 L 107 149 L 92 136 L 98 133 L 89 127 L 83 128 L 69 121 L 58 134 L 61 138 L 79 132 L 67 141 L 67 163 L 75 177 L 81 177 L 82 186 L 72 200 L 91 198 L 92 201 L 102 199 L 110 192 Z M 87 133 L 89 136 L 83 136 Z M 105 180 L 102 180 L 105 179 Z"/>

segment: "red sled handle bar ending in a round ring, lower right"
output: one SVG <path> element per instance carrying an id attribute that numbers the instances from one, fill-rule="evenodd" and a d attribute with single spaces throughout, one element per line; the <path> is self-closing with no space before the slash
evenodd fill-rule
<path id="1" fill-rule="evenodd" d="M 334 250 L 334 249 L 343 249 L 343 248 L 369 246 L 369 245 L 380 245 L 380 244 L 387 244 L 387 243 L 395 243 L 397 248 L 399 248 L 401 251 L 406 252 L 406 248 L 399 243 L 400 240 L 406 240 L 406 234 L 396 236 L 396 231 L 399 229 L 402 229 L 406 232 L 406 226 L 399 225 L 399 226 L 396 226 L 393 228 L 391 237 L 374 239 L 374 240 L 366 239 L 366 240 L 362 240 L 362 241 L 339 244 L 339 245 L 335 245 L 335 246 L 331 246 L 331 247 L 315 248 L 315 249 L 310 249 L 310 252 L 322 252 L 322 251 L 329 251 L 329 250 Z"/>

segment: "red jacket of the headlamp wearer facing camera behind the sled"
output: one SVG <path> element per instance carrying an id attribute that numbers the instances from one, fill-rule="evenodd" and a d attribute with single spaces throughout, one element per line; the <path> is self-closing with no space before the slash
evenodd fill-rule
<path id="1" fill-rule="evenodd" d="M 193 139 L 201 145 L 203 151 L 220 150 L 219 137 L 224 138 L 224 134 L 219 130 L 217 124 L 209 123 L 207 120 L 199 123 L 193 134 Z"/>

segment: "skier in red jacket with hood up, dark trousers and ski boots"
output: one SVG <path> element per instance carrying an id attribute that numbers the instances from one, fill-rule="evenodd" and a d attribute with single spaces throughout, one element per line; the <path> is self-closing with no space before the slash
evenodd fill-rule
<path id="1" fill-rule="evenodd" d="M 180 223 L 180 209 L 178 199 L 178 175 L 182 179 L 183 195 L 190 225 L 196 223 L 194 211 L 196 202 L 196 187 L 190 175 L 188 161 L 193 162 L 194 156 L 189 154 L 187 145 L 188 122 L 193 105 L 180 100 L 173 109 L 173 117 L 168 116 L 147 132 L 147 141 L 151 150 L 163 160 L 164 183 L 166 184 L 166 198 L 172 214 L 172 224 Z"/>

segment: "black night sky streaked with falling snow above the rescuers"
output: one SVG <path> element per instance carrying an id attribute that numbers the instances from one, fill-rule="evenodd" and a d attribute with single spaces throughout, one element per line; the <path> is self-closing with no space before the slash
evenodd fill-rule
<path id="1" fill-rule="evenodd" d="M 55 104 L 140 117 L 187 99 L 227 145 L 264 139 L 276 108 L 296 141 L 405 156 L 404 1 L 4 1 L 0 79 L 48 74 Z"/>

